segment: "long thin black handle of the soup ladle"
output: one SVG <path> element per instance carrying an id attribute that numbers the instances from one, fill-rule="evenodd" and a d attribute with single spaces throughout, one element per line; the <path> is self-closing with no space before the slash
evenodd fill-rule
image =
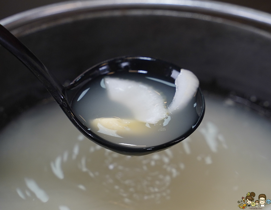
<path id="1" fill-rule="evenodd" d="M 62 104 L 63 85 L 22 42 L 1 24 L 0 44 L 16 56 L 39 79 L 58 104 Z"/>

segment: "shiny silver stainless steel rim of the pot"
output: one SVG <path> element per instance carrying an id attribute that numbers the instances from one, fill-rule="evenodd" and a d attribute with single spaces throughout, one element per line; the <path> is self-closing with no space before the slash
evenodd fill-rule
<path id="1" fill-rule="evenodd" d="M 31 20 L 36 20 L 42 17 L 61 14 L 65 12 L 80 11 L 86 9 L 106 9 L 112 7 L 135 7 L 148 6 L 184 9 L 184 10 L 199 10 L 202 12 L 220 13 L 233 17 L 244 18 L 247 20 L 257 21 L 271 25 L 271 14 L 257 11 L 251 8 L 246 8 L 228 3 L 215 1 L 199 1 L 199 0 L 88 0 L 88 1 L 69 1 L 34 8 L 24 11 L 5 19 L 0 20 L 0 23 L 7 28 L 21 25 Z"/>

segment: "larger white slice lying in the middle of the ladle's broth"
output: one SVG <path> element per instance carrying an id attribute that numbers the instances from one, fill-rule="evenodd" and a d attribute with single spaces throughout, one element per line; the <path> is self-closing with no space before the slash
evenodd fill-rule
<path id="1" fill-rule="evenodd" d="M 119 78 L 104 79 L 111 100 L 128 107 L 138 121 L 155 124 L 168 115 L 163 97 L 152 87 Z"/>

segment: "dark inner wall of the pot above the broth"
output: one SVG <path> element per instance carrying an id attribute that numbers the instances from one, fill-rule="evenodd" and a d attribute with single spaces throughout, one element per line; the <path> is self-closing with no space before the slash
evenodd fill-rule
<path id="1" fill-rule="evenodd" d="M 65 4 L 62 6 L 65 8 Z M 257 99 L 259 110 L 265 111 L 261 109 L 263 102 L 271 101 L 271 35 L 266 23 L 211 9 L 144 4 L 90 5 L 28 17 L 20 21 L 10 18 L 6 27 L 63 84 L 103 60 L 141 55 L 191 70 L 203 90 L 247 99 L 256 96 L 253 101 Z M 3 127 L 26 108 L 50 96 L 3 47 L 0 57 Z"/>

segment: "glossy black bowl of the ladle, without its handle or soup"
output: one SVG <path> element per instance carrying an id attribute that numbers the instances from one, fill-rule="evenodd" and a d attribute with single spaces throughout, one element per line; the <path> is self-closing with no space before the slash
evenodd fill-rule
<path id="1" fill-rule="evenodd" d="M 123 63 L 125 64 L 128 63 L 129 65 L 125 65 L 125 67 L 123 67 L 122 66 Z M 115 72 L 126 72 L 126 73 L 134 75 L 134 74 L 141 74 L 140 72 L 144 72 L 145 76 L 156 75 L 160 78 L 172 80 L 174 83 L 174 80 L 171 78 L 173 70 L 180 71 L 181 68 L 178 67 L 177 65 L 174 65 L 169 62 L 165 62 L 156 58 L 149 58 L 149 57 L 143 57 L 143 56 L 141 57 L 140 56 L 125 56 L 125 57 L 110 59 L 91 67 L 86 72 L 78 76 L 73 82 L 71 82 L 71 84 L 66 87 L 67 99 L 68 99 L 69 104 L 71 104 L 73 101 L 73 97 L 75 96 L 75 93 L 78 90 L 80 90 L 80 88 L 83 87 L 84 84 L 86 84 L 88 81 L 100 75 L 112 75 Z M 81 123 L 78 123 L 77 128 L 82 133 L 84 133 L 84 135 L 86 135 L 88 138 L 93 139 L 93 141 L 96 142 L 97 144 L 105 148 L 108 148 L 112 151 L 115 151 L 121 154 L 132 155 L 132 156 L 146 155 L 153 152 L 164 150 L 166 148 L 169 148 L 181 142 L 197 129 L 197 127 L 200 125 L 203 119 L 204 111 L 205 111 L 204 96 L 200 88 L 198 89 L 198 92 L 197 92 L 196 102 L 197 102 L 197 105 L 195 108 L 198 114 L 197 122 L 194 125 L 191 125 L 190 129 L 188 129 L 178 138 L 168 139 L 168 142 L 165 142 L 163 144 L 156 144 L 156 145 L 147 146 L 147 147 L 146 146 L 138 147 L 138 146 L 125 146 L 125 145 L 120 145 L 114 142 L 110 142 L 104 138 L 101 138 L 99 135 L 96 135 L 95 133 L 90 132 L 88 130 L 88 127 L 84 125 L 84 122 L 82 120 L 79 120 L 80 117 L 77 118 L 81 122 Z M 180 123 L 180 125 L 182 124 L 183 123 Z"/>

